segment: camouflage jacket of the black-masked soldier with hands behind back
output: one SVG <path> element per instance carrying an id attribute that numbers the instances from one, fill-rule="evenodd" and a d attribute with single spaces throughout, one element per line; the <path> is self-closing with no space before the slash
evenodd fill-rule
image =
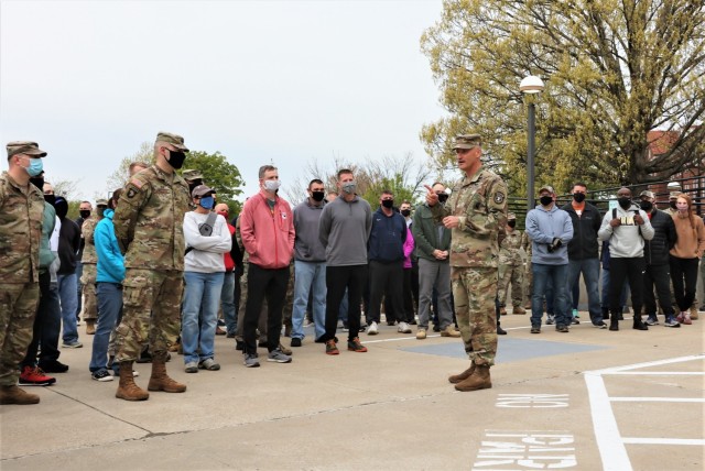
<path id="1" fill-rule="evenodd" d="M 184 270 L 188 185 L 156 165 L 132 176 L 112 217 L 126 269 Z"/>

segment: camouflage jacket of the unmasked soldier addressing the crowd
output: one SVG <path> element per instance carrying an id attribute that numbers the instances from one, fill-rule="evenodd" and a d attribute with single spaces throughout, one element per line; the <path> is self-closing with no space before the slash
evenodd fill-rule
<path id="1" fill-rule="evenodd" d="M 480 167 L 460 179 L 445 206 L 431 208 L 436 221 L 457 216 L 453 229 L 451 266 L 498 267 L 500 230 L 507 221 L 507 185 L 495 173 Z"/>

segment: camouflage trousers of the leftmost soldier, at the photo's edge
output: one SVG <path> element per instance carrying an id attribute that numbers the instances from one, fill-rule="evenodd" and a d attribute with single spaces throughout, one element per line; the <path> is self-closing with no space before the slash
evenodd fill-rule
<path id="1" fill-rule="evenodd" d="M 0 289 L 0 386 L 18 384 L 39 303 L 39 283 L 6 283 Z"/>

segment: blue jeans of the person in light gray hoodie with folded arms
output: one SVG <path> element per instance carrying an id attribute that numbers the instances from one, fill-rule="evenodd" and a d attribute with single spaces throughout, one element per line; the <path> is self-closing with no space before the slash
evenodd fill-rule
<path id="1" fill-rule="evenodd" d="M 184 272 L 184 303 L 181 311 L 184 363 L 203 361 L 214 355 L 224 278 L 225 272 Z"/>

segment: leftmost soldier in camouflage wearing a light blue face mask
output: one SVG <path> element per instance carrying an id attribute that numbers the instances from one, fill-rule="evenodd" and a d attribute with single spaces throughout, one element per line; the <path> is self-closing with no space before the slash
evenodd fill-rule
<path id="1" fill-rule="evenodd" d="M 40 402 L 17 383 L 40 300 L 44 196 L 30 177 L 41 174 L 44 156 L 35 142 L 10 142 L 0 176 L 0 404 Z"/>

